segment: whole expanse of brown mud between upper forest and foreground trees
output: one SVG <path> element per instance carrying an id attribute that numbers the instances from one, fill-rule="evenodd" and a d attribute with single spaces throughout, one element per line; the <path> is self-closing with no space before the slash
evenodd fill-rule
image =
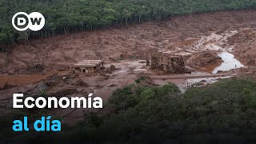
<path id="1" fill-rule="evenodd" d="M 14 93 L 38 94 L 45 90 L 56 97 L 82 97 L 93 92 L 106 104 L 114 90 L 142 76 L 152 86 L 173 82 L 184 91 L 194 83 L 206 86 L 221 78 L 254 75 L 255 15 L 252 10 L 193 14 L 18 44 L 10 54 L 0 54 L 1 112 L 9 113 Z M 146 66 L 146 54 L 150 52 L 185 55 L 186 68 L 193 72 L 165 74 L 150 70 Z M 116 70 L 72 74 L 70 66 L 76 62 L 96 59 Z M 51 110 L 63 116 L 65 122 L 77 122 L 84 112 Z"/>

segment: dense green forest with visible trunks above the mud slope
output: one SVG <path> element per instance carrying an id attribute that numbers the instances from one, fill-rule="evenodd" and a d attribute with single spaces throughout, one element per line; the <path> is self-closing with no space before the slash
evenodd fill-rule
<path id="1" fill-rule="evenodd" d="M 31 38 L 126 26 L 182 14 L 255 8 L 255 0 L 0 0 L 0 44 L 6 46 Z M 11 18 L 20 11 L 42 13 L 46 26 L 38 32 L 15 30 Z"/>

